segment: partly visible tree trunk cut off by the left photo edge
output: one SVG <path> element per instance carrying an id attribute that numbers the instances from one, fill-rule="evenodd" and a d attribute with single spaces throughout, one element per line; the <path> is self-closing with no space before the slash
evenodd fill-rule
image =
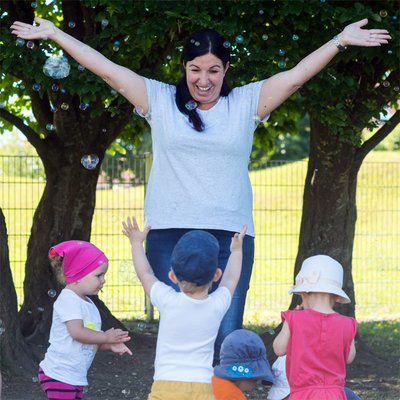
<path id="1" fill-rule="evenodd" d="M 0 370 L 11 374 L 28 371 L 33 373 L 36 369 L 33 354 L 24 341 L 18 321 L 17 294 L 10 270 L 7 227 L 1 208 L 0 282 Z"/>

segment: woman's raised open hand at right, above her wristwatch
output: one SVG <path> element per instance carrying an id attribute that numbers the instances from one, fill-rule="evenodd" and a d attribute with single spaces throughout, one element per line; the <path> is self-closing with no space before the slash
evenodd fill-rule
<path id="1" fill-rule="evenodd" d="M 347 25 L 340 33 L 340 43 L 343 46 L 375 47 L 387 44 L 391 39 L 386 29 L 362 29 L 368 24 L 368 19 L 362 19 Z"/>

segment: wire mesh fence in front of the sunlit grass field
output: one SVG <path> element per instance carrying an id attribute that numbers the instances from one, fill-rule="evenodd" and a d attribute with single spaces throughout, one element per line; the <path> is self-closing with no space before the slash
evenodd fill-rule
<path id="1" fill-rule="evenodd" d="M 106 158 L 97 185 L 91 241 L 110 259 L 100 297 L 120 318 L 143 318 L 146 301 L 121 221 L 143 223 L 150 155 Z M 293 280 L 307 161 L 269 162 L 251 171 L 255 262 L 245 319 L 279 320 Z M 358 318 L 398 316 L 400 300 L 400 162 L 364 162 L 358 177 L 353 278 Z M 32 218 L 45 186 L 41 161 L 0 156 L 0 207 L 7 222 L 11 269 L 19 302 Z M 0 282 L 1 284 L 1 282 Z"/>

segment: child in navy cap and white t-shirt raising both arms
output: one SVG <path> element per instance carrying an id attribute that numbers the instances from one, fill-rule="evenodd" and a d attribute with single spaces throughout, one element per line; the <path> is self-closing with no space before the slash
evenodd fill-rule
<path id="1" fill-rule="evenodd" d="M 247 227 L 232 238 L 224 273 L 218 268 L 219 245 L 208 232 L 192 230 L 177 242 L 169 278 L 180 292 L 159 281 L 147 260 L 135 218 L 122 223 L 131 243 L 132 260 L 143 288 L 160 313 L 154 382 L 148 400 L 215 400 L 211 378 L 214 342 L 228 310 L 242 268 L 242 243 Z M 213 282 L 220 280 L 209 294 Z"/>

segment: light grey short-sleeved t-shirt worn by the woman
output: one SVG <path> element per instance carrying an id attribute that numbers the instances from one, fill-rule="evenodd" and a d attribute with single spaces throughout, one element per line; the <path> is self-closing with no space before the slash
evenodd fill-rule
<path id="1" fill-rule="evenodd" d="M 153 165 L 145 223 L 153 229 L 194 228 L 254 236 L 248 162 L 258 123 L 262 81 L 237 87 L 209 110 L 197 132 L 175 103 L 175 86 L 146 79 Z"/>

